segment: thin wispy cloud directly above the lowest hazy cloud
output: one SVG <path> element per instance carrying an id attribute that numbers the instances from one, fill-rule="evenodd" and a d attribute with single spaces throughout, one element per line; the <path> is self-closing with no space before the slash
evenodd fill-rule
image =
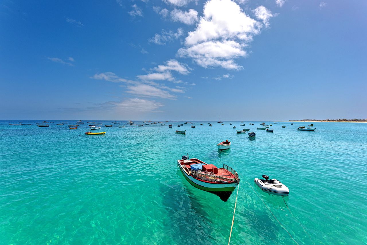
<path id="1" fill-rule="evenodd" d="M 137 84 L 127 86 L 127 93 L 139 95 L 143 97 L 158 97 L 162 99 L 176 99 L 176 96 L 171 95 L 166 90 L 156 88 L 148 84 Z"/>

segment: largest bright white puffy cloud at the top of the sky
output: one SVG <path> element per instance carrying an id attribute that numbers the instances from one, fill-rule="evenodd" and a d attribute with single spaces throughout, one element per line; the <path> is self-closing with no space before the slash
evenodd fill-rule
<path id="1" fill-rule="evenodd" d="M 207 1 L 195 30 L 185 38 L 186 47 L 179 49 L 177 55 L 193 58 L 204 68 L 241 69 L 234 59 L 246 56 L 247 43 L 261 28 L 268 27 L 269 18 L 274 16 L 264 6 L 253 13 L 263 24 L 246 15 L 234 1 Z"/>

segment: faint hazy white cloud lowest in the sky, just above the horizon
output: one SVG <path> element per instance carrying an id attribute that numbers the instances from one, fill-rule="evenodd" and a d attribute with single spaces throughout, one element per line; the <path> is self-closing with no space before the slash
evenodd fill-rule
<path id="1" fill-rule="evenodd" d="M 117 109 L 122 109 L 123 111 L 133 111 L 138 113 L 155 111 L 163 104 L 156 102 L 155 100 L 145 100 L 138 98 L 126 99 L 122 102 L 113 103 Z"/>

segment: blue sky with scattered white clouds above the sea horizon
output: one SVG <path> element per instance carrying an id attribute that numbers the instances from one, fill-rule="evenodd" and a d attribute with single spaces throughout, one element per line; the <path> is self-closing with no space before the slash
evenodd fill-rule
<path id="1" fill-rule="evenodd" d="M 0 3 L 2 120 L 367 118 L 367 1 Z"/>

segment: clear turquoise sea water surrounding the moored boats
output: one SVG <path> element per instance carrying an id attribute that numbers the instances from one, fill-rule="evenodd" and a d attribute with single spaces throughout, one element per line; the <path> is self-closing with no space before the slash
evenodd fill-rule
<path id="1" fill-rule="evenodd" d="M 237 189 L 222 202 L 192 187 L 177 168 L 186 153 L 239 173 L 231 244 L 294 244 L 259 197 L 299 244 L 367 243 L 359 184 L 367 178 L 367 124 L 313 123 L 315 132 L 303 132 L 296 129 L 307 123 L 279 122 L 270 133 L 245 121 L 256 132 L 249 139 L 232 128 L 244 128 L 240 122 L 195 121 L 194 129 L 120 121 L 125 128 L 103 126 L 104 136 L 58 122 L 0 121 L 0 244 L 226 244 Z M 182 128 L 186 135 L 174 133 Z M 231 149 L 218 152 L 225 139 Z M 290 189 L 285 201 L 312 241 L 281 197 L 254 184 L 262 174 Z"/>

